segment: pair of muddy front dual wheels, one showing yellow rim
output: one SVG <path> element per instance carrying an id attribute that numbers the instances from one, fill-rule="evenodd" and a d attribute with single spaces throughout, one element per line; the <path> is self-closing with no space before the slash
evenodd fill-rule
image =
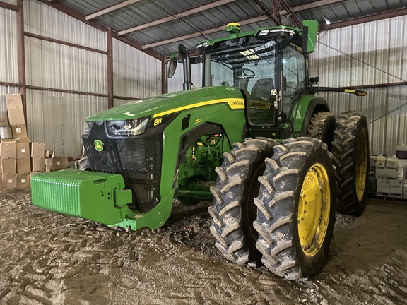
<path id="1" fill-rule="evenodd" d="M 261 261 L 287 279 L 322 267 L 336 208 L 334 168 L 324 143 L 249 138 L 225 154 L 217 172 L 208 210 L 216 247 L 228 260 Z"/>

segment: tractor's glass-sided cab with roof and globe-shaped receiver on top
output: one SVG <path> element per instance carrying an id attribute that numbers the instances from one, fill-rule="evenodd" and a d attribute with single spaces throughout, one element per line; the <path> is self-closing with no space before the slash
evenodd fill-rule
<path id="1" fill-rule="evenodd" d="M 311 23 L 315 36 L 318 25 Z M 309 32 L 309 25 L 306 28 Z M 203 86 L 242 90 L 249 136 L 286 138 L 293 102 L 308 87 L 309 49 L 303 31 L 279 26 L 242 34 L 238 23 L 230 23 L 226 32 L 229 39 L 206 40 L 196 46 L 204 61 Z M 315 38 L 311 40 L 313 46 Z"/>

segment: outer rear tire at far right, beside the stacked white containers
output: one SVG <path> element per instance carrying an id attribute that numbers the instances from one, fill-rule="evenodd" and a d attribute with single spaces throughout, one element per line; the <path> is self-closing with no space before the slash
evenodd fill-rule
<path id="1" fill-rule="evenodd" d="M 369 136 L 366 117 L 361 112 L 343 112 L 336 121 L 332 143 L 338 212 L 358 216 L 365 208 Z"/>

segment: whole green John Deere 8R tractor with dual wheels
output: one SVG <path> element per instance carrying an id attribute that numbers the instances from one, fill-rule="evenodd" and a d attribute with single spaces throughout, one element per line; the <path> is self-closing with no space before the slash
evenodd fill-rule
<path id="1" fill-rule="evenodd" d="M 184 205 L 208 208 L 216 247 L 235 263 L 264 263 L 287 279 L 317 273 L 336 209 L 360 215 L 369 144 L 366 118 L 338 120 L 309 79 L 318 23 L 240 32 L 197 44 L 203 86 L 193 88 L 181 45 L 184 90 L 86 119 L 89 170 L 35 174 L 33 204 L 126 229 L 155 229 Z M 172 72 L 177 59 L 172 56 Z"/>

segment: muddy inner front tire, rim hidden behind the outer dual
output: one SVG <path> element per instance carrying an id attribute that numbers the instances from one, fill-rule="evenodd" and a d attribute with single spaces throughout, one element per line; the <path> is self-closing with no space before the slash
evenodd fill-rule
<path id="1" fill-rule="evenodd" d="M 219 251 L 234 263 L 260 260 L 255 245 L 253 221 L 257 211 L 253 201 L 260 186 L 257 178 L 263 174 L 264 160 L 273 154 L 274 145 L 276 142 L 269 138 L 247 138 L 235 143 L 231 152 L 225 152 L 222 166 L 216 168 L 218 178 L 211 186 L 213 203 L 208 208 L 211 233 Z"/>

